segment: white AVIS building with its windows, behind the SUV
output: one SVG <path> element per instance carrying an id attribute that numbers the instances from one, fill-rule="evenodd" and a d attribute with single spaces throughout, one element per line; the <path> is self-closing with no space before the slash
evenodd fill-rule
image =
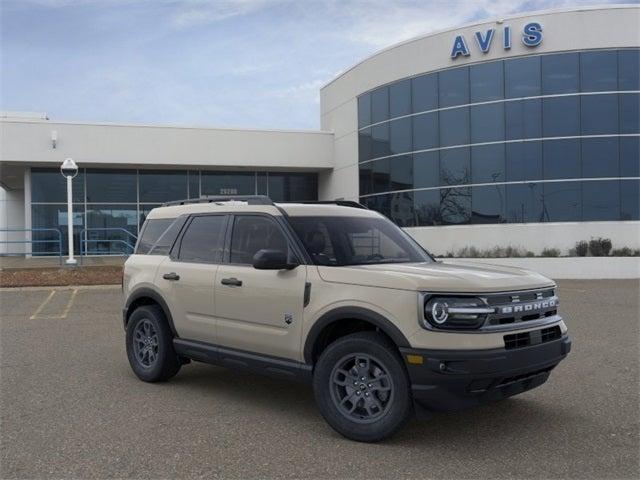
<path id="1" fill-rule="evenodd" d="M 66 228 L 56 168 L 73 157 L 78 242 L 136 235 L 164 201 L 266 194 L 359 200 L 438 254 L 591 237 L 640 248 L 638 25 L 638 6 L 608 6 L 412 39 L 325 85 L 318 132 L 7 117 L 0 229 Z"/>

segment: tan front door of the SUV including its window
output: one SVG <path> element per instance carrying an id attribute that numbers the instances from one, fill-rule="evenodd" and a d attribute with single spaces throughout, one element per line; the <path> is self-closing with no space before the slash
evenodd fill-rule
<path id="1" fill-rule="evenodd" d="M 218 342 L 239 350 L 299 360 L 306 266 L 257 270 L 261 249 L 291 253 L 282 226 L 265 215 L 236 215 L 229 263 L 216 274 Z"/>

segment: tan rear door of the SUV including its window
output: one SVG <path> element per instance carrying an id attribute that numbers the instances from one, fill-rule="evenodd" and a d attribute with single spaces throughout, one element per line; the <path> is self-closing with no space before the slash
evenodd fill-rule
<path id="1" fill-rule="evenodd" d="M 222 261 L 228 215 L 194 215 L 158 269 L 178 335 L 216 343 L 214 284 Z"/>

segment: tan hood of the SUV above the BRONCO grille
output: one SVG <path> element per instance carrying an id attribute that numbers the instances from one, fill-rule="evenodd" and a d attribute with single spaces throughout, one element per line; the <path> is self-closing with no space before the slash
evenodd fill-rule
<path id="1" fill-rule="evenodd" d="M 319 266 L 318 272 L 327 282 L 431 292 L 489 293 L 554 285 L 552 280 L 529 270 L 473 262 Z"/>

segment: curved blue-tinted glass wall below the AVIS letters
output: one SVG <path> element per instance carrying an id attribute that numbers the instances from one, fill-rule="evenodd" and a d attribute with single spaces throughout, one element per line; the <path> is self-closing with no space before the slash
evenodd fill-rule
<path id="1" fill-rule="evenodd" d="M 358 97 L 360 199 L 401 226 L 640 218 L 640 49 L 528 55 Z"/>

